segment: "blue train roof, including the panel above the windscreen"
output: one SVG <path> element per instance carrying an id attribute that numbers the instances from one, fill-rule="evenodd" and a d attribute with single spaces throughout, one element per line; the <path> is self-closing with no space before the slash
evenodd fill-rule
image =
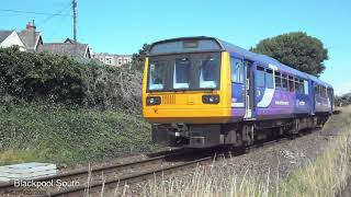
<path id="1" fill-rule="evenodd" d="M 241 48 L 237 45 L 230 44 L 228 42 L 225 42 L 225 40 L 222 40 L 222 39 L 218 39 L 215 37 L 194 36 L 194 37 L 178 37 L 178 38 L 165 39 L 165 40 L 160 40 L 160 42 L 156 42 L 156 43 L 151 44 L 148 54 L 149 55 L 168 54 L 168 53 L 170 53 L 170 47 L 173 47 L 173 48 L 178 47 L 178 49 L 176 49 L 174 53 L 180 53 L 181 51 L 180 48 L 183 48 L 183 47 L 181 47 L 180 43 L 184 42 L 184 40 L 185 42 L 186 40 L 202 40 L 202 43 L 200 43 L 197 46 L 199 49 L 195 51 L 226 50 L 226 51 L 242 56 L 244 58 L 249 59 L 249 60 L 258 61 L 261 63 L 274 65 L 280 70 L 282 70 L 284 72 L 288 72 L 291 74 L 298 76 L 304 79 L 309 79 L 309 80 L 313 80 L 321 85 L 331 88 L 330 84 L 321 81 L 320 79 L 318 79 L 312 74 L 307 74 L 305 72 L 302 72 L 299 70 L 293 69 L 292 67 L 288 67 L 286 65 L 283 65 L 279 60 L 276 60 L 272 57 L 252 53 L 252 51 L 247 50 L 245 48 Z M 178 45 L 177 45 L 177 43 L 178 43 Z M 167 44 L 172 44 L 172 45 L 167 46 Z M 186 49 L 186 51 L 189 51 L 189 50 L 191 50 L 191 48 Z"/>

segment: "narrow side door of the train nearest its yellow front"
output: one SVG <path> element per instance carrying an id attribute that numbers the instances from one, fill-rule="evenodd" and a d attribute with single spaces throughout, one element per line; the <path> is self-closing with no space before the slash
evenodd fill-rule
<path id="1" fill-rule="evenodd" d="M 252 73 L 252 61 L 245 60 L 246 84 L 245 84 L 245 118 L 253 118 L 254 112 L 254 83 Z"/>

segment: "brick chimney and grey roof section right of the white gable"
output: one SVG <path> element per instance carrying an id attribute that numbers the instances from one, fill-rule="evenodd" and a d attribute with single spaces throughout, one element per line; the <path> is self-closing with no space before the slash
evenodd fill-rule
<path id="1" fill-rule="evenodd" d="M 26 51 L 37 51 L 37 48 L 43 45 L 43 37 L 39 32 L 36 32 L 34 20 L 29 22 L 25 30 L 19 32 L 19 36 L 24 44 Z"/>

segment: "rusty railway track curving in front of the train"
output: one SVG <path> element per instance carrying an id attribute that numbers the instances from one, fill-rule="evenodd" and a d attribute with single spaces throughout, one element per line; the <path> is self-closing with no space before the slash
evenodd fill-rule
<path id="1" fill-rule="evenodd" d="M 278 142 L 285 141 L 286 138 L 274 140 L 274 141 L 268 141 L 264 143 L 258 143 L 250 146 L 246 148 L 245 152 L 250 152 L 256 150 L 257 148 L 268 147 L 272 144 L 276 144 Z M 173 172 L 179 172 L 183 169 L 188 169 L 191 166 L 205 164 L 213 162 L 216 160 L 218 154 L 227 154 L 233 153 L 227 150 L 223 151 L 216 151 L 212 153 L 203 153 L 202 155 L 199 155 L 199 151 L 195 152 L 177 152 L 177 153 L 170 153 L 165 155 L 159 155 L 146 160 L 140 160 L 137 162 L 129 162 L 124 164 L 117 164 L 117 165 L 109 165 L 109 166 L 101 166 L 91 169 L 90 171 L 83 170 L 83 171 L 73 171 L 70 173 L 65 174 L 58 174 L 55 176 L 49 176 L 45 178 L 37 178 L 34 179 L 34 182 L 53 182 L 56 183 L 56 181 L 61 182 L 79 182 L 80 184 L 77 186 L 70 186 L 65 189 L 57 188 L 55 186 L 48 187 L 48 188 L 36 188 L 42 189 L 45 192 L 45 194 L 42 194 L 42 196 L 82 196 L 82 194 L 94 194 L 101 192 L 101 188 L 116 188 L 118 186 L 124 186 L 125 184 L 134 184 L 141 181 L 154 178 L 157 175 L 163 175 L 163 174 L 170 174 Z M 185 155 L 188 154 L 188 155 Z M 186 161 L 181 160 L 178 157 L 195 157 L 196 159 L 189 158 Z M 234 153 L 236 154 L 236 153 Z M 178 159 L 174 159 L 178 158 Z M 225 157 L 219 157 L 225 158 Z M 176 161 L 176 162 L 174 162 Z M 106 176 L 106 177 L 104 177 Z M 0 195 L 1 194 L 9 194 L 9 192 L 18 190 L 22 193 L 15 193 L 15 194 L 26 194 L 23 189 L 31 189 L 31 188 L 14 188 L 13 183 L 7 184 L 7 185 L 0 185 Z M 32 188 L 33 189 L 33 188 Z"/>

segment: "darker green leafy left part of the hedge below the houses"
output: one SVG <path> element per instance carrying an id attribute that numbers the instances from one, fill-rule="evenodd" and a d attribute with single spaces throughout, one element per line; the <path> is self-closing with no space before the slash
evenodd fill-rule
<path id="1" fill-rule="evenodd" d="M 0 89 L 19 99 L 79 104 L 86 80 L 83 67 L 66 56 L 0 49 Z"/>

